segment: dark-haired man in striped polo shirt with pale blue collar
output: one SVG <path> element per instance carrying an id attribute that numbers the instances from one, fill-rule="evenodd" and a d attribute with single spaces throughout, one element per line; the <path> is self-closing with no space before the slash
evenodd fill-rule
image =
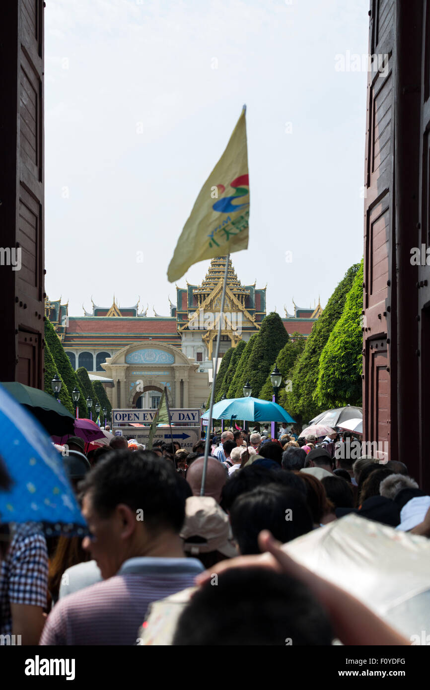
<path id="1" fill-rule="evenodd" d="M 148 605 L 194 584 L 203 566 L 184 557 L 181 481 L 150 451 L 115 451 L 86 475 L 83 546 L 104 580 L 61 599 L 40 644 L 135 644 Z"/>

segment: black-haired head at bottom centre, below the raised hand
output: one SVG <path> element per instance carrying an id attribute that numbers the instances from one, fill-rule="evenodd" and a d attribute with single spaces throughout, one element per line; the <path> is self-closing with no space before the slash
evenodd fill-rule
<path id="1" fill-rule="evenodd" d="M 329 646 L 331 624 L 311 591 L 285 573 L 232 568 L 200 587 L 179 617 L 175 646 Z"/>

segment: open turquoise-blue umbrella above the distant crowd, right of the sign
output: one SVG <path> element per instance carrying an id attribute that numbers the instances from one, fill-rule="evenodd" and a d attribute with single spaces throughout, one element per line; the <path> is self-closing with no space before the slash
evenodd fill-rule
<path id="1" fill-rule="evenodd" d="M 207 420 L 209 411 L 202 415 Z M 214 420 L 244 420 L 246 422 L 287 422 L 295 424 L 293 417 L 277 402 L 260 400 L 259 397 L 232 397 L 219 400 L 212 411 Z"/>

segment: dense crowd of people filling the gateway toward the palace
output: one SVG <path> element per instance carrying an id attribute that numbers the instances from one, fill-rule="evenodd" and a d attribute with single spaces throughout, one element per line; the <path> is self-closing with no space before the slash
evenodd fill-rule
<path id="1" fill-rule="evenodd" d="M 410 644 L 280 549 L 349 513 L 430 538 L 430 496 L 407 465 L 336 452 L 351 440 L 284 426 L 275 438 L 268 425 L 223 431 L 211 437 L 200 495 L 204 438 L 188 452 L 119 436 L 87 457 L 70 437 L 59 457 L 88 533 L 1 526 L 0 633 L 22 644 L 133 645 L 150 604 L 197 584 L 175 645 Z"/>

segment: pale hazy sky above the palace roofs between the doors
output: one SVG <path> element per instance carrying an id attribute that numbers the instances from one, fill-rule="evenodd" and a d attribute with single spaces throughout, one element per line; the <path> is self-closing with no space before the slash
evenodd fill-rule
<path id="1" fill-rule="evenodd" d="M 363 251 L 367 72 L 354 55 L 367 53 L 368 10 L 46 0 L 50 299 L 79 316 L 115 292 L 168 315 L 177 238 L 246 103 L 250 239 L 233 265 L 243 284 L 267 284 L 267 311 L 318 295 L 324 306 Z M 201 282 L 208 264 L 178 285 Z"/>

